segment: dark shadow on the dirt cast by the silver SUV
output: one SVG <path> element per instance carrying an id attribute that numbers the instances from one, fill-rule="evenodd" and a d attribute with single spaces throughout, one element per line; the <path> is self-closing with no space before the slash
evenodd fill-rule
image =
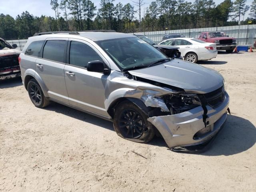
<path id="1" fill-rule="evenodd" d="M 80 112 L 78 110 L 63 106 L 58 103 L 51 103 L 46 110 L 55 111 L 77 120 L 88 122 L 96 126 L 114 131 L 112 122 Z M 116 135 L 117 136 L 117 135 Z M 218 156 L 237 154 L 251 148 L 256 142 L 256 128 L 248 120 L 228 115 L 225 126 L 218 134 L 209 150 L 200 155 Z M 155 137 L 148 142 L 149 145 L 167 147 L 163 138 Z M 146 145 L 146 144 L 145 144 Z"/>

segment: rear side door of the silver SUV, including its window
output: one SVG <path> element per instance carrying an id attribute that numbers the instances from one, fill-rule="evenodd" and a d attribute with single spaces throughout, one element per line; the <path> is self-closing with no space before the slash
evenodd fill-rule
<path id="1" fill-rule="evenodd" d="M 46 39 L 40 58 L 36 59 L 36 72 L 42 78 L 50 98 L 68 103 L 64 78 L 68 38 Z"/>

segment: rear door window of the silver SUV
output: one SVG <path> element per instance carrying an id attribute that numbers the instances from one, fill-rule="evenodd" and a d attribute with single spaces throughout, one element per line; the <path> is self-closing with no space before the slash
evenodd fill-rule
<path id="1" fill-rule="evenodd" d="M 65 40 L 48 40 L 44 46 L 43 58 L 64 62 L 66 45 L 67 41 Z"/>

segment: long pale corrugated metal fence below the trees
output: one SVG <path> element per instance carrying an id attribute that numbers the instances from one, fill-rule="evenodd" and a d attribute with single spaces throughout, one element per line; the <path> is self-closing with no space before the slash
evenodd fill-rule
<path id="1" fill-rule="evenodd" d="M 153 32 L 138 32 L 130 34 L 144 34 L 151 38 L 154 42 L 161 42 L 164 34 L 166 33 L 181 33 L 185 37 L 198 38 L 201 32 L 206 31 L 223 31 L 226 35 L 236 38 L 238 45 L 252 45 L 256 40 L 256 24 L 254 25 L 241 25 L 241 26 L 226 26 L 226 27 L 210 27 L 210 28 L 197 28 L 197 29 L 181 29 L 181 30 L 166 30 L 166 31 L 153 31 Z M 10 44 L 17 44 L 16 49 L 22 50 L 28 40 L 8 40 Z"/>

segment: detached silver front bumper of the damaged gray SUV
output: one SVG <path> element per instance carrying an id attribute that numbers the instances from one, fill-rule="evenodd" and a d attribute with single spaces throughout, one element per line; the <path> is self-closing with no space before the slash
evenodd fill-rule
<path id="1" fill-rule="evenodd" d="M 220 106 L 206 106 L 207 127 L 204 126 L 204 110 L 201 106 L 180 114 L 151 117 L 148 121 L 158 129 L 169 148 L 200 145 L 213 138 L 223 126 L 228 104 L 229 96 L 225 93 L 224 102 Z M 200 136 L 196 135 L 198 132 Z"/>

